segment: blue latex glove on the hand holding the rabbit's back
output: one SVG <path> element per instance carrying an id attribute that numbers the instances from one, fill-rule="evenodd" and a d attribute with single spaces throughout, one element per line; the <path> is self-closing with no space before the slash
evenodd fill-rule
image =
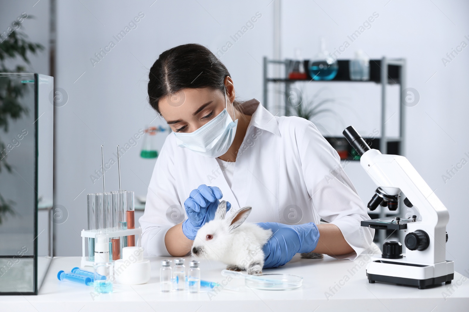
<path id="1" fill-rule="evenodd" d="M 286 225 L 276 222 L 257 223 L 263 229 L 271 229 L 272 237 L 262 250 L 265 255 L 264 268 L 277 268 L 292 260 L 296 253 L 309 253 L 318 245 L 318 227 L 310 222 Z"/>

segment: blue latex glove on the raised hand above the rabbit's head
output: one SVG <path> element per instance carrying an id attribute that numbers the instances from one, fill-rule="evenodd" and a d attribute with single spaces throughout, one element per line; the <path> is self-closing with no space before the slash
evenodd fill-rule
<path id="1" fill-rule="evenodd" d="M 205 184 L 190 192 L 189 198 L 184 202 L 188 219 L 182 223 L 182 232 L 188 239 L 194 240 L 200 227 L 215 218 L 221 197 L 223 194 L 219 188 Z M 231 204 L 227 202 L 227 211 L 230 208 Z"/>

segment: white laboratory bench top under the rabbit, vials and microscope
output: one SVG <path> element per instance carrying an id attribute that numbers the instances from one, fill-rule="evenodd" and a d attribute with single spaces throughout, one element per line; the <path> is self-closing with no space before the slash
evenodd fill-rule
<path id="1" fill-rule="evenodd" d="M 373 312 L 440 312 L 469 311 L 468 278 L 454 273 L 452 284 L 419 290 L 416 287 L 386 283 L 368 283 L 365 267 L 370 255 L 355 261 L 301 259 L 299 254 L 281 268 L 264 273 L 303 276 L 303 286 L 296 290 L 256 290 L 233 279 L 228 286 L 240 291 L 200 293 L 159 290 L 160 261 L 168 257 L 145 257 L 151 260 L 150 282 L 142 285 L 114 284 L 110 294 L 96 294 L 91 286 L 61 282 L 59 270 L 80 265 L 80 257 L 55 257 L 38 296 L 0 296 L 0 311 L 88 312 L 88 311 L 373 311 Z M 171 259 L 171 257 L 169 257 Z M 186 267 L 189 257 L 186 258 Z M 227 282 L 220 272 L 225 266 L 217 261 L 201 261 L 201 277 L 211 282 Z M 86 269 L 91 270 L 90 267 Z"/>

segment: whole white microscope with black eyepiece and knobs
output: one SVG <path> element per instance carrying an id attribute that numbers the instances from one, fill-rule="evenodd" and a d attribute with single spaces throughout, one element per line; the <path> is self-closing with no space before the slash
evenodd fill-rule
<path id="1" fill-rule="evenodd" d="M 383 155 L 371 149 L 365 140 L 349 126 L 343 132 L 350 145 L 360 154 L 360 164 L 376 183 L 375 195 L 368 203 L 370 210 L 378 205 L 396 210 L 401 192 L 406 196 L 404 203 L 415 206 L 420 219 L 384 218 L 362 221 L 362 226 L 374 229 L 403 230 L 407 253 L 402 254 L 402 245 L 397 241 L 383 244 L 381 257 L 371 258 L 366 267 L 369 283 L 387 282 L 418 286 L 424 289 L 454 279 L 454 261 L 446 260 L 446 224 L 449 213 L 424 179 L 417 173 L 407 158 L 398 155 Z"/>

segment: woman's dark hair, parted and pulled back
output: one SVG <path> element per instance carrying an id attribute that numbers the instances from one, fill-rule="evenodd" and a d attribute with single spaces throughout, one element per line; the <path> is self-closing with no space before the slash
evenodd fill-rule
<path id="1" fill-rule="evenodd" d="M 150 68 L 148 98 L 158 113 L 159 99 L 185 88 L 211 87 L 224 92 L 227 68 L 201 44 L 182 44 L 164 51 Z M 237 106 L 239 103 L 235 102 Z"/>

